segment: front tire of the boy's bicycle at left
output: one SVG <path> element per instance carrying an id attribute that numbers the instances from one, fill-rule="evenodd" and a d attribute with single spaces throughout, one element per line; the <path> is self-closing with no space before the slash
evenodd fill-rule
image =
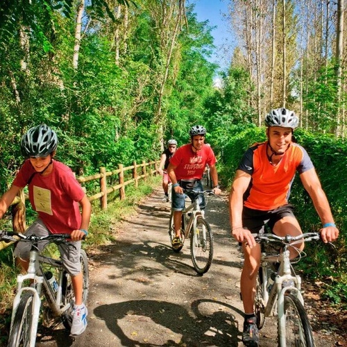
<path id="1" fill-rule="evenodd" d="M 31 341 L 31 329 L 33 323 L 33 298 L 31 291 L 26 291 L 17 307 L 15 318 L 10 329 L 8 347 L 29 347 Z M 37 322 L 36 322 L 37 329 Z M 36 332 L 36 330 L 35 330 Z M 36 335 L 36 334 L 35 334 Z"/>

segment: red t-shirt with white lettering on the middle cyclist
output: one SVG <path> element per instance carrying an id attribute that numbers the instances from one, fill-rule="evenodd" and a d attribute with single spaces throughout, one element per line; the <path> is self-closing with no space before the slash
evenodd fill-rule
<path id="1" fill-rule="evenodd" d="M 194 152 L 192 144 L 181 146 L 170 160 L 173 164 L 177 180 L 201 180 L 206 164 L 214 165 L 217 160 L 212 148 L 203 145 L 201 151 Z"/>

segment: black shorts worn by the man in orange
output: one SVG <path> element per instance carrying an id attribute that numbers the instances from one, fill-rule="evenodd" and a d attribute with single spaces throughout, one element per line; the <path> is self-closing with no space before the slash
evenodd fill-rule
<path id="1" fill-rule="evenodd" d="M 272 230 L 276 221 L 287 216 L 295 218 L 293 205 L 289 203 L 269 211 L 253 210 L 244 206 L 242 225 L 253 233 L 264 233 L 266 224 Z"/>

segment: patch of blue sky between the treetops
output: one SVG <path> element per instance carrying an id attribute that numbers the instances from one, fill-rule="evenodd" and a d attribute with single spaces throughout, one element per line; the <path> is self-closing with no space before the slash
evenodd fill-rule
<path id="1" fill-rule="evenodd" d="M 198 22 L 208 19 L 210 26 L 217 26 L 212 31 L 216 49 L 212 56 L 212 62 L 217 62 L 221 69 L 228 68 L 231 57 L 232 37 L 230 28 L 223 17 L 228 13 L 227 0 L 187 0 L 187 3 L 195 3 L 195 12 Z"/>

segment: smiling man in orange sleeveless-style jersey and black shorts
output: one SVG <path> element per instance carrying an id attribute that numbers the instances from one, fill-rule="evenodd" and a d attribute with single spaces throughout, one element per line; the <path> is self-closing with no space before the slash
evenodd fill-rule
<path id="1" fill-rule="evenodd" d="M 253 304 L 261 251 L 251 234 L 264 232 L 267 223 L 278 236 L 301 235 L 293 206 L 288 203 L 296 171 L 323 223 L 323 242 L 335 241 L 339 235 L 312 161 L 305 149 L 293 142 L 298 117 L 293 111 L 278 108 L 266 115 L 265 125 L 267 141 L 251 146 L 244 153 L 229 197 L 232 236 L 242 243 L 244 251 L 241 294 L 244 304 L 242 341 L 245 346 L 259 344 Z M 303 250 L 304 244 L 298 247 Z M 291 250 L 291 257 L 297 255 Z"/>

